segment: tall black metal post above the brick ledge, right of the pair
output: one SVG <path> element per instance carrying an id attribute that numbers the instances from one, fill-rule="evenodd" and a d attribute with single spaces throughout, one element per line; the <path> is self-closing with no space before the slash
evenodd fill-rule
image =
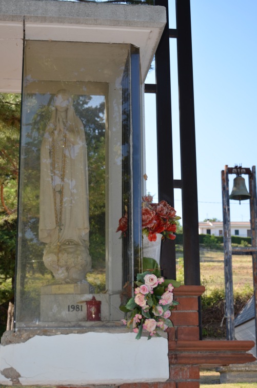
<path id="1" fill-rule="evenodd" d="M 186 285 L 200 285 L 190 0 L 176 0 L 183 239 Z"/>

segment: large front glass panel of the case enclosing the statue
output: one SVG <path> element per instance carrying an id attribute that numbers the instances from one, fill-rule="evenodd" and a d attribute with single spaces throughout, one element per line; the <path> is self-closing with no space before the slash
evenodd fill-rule
<path id="1" fill-rule="evenodd" d="M 16 327 L 119 320 L 133 278 L 133 233 L 126 254 L 116 234 L 133 203 L 130 45 L 27 41 L 24 58 Z"/>

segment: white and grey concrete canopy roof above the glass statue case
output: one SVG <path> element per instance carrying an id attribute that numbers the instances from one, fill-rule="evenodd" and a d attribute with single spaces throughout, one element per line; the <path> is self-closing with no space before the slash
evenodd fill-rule
<path id="1" fill-rule="evenodd" d="M 21 92 L 24 37 L 133 44 L 144 81 L 165 24 L 166 9 L 159 6 L 0 0 L 0 92 Z"/>

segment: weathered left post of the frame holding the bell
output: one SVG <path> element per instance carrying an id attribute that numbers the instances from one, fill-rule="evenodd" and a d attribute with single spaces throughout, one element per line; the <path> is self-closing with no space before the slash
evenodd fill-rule
<path id="1" fill-rule="evenodd" d="M 227 340 L 235 339 L 234 328 L 234 297 L 232 278 L 232 246 L 230 230 L 230 207 L 228 166 L 221 172 L 222 179 L 222 207 L 223 207 L 223 243 L 224 243 L 224 275 L 225 275 L 225 316 Z"/>

